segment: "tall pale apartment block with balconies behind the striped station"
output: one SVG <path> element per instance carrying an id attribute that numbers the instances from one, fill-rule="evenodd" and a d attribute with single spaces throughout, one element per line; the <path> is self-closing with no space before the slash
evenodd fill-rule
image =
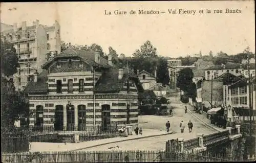
<path id="1" fill-rule="evenodd" d="M 47 53 L 60 53 L 60 28 L 57 21 L 53 27 L 44 28 L 39 25 L 39 20 L 34 21 L 32 26 L 23 21 L 21 27 L 17 23 L 9 27 L 1 31 L 1 39 L 14 44 L 20 65 L 14 74 L 14 85 L 16 91 L 22 91 L 31 75 L 42 71 L 41 65 L 46 62 Z"/>

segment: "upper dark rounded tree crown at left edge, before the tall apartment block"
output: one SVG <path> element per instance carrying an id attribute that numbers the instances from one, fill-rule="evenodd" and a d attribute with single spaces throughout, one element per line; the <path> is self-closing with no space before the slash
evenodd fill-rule
<path id="1" fill-rule="evenodd" d="M 13 76 L 19 67 L 16 49 L 13 44 L 1 40 L 1 76 Z"/>

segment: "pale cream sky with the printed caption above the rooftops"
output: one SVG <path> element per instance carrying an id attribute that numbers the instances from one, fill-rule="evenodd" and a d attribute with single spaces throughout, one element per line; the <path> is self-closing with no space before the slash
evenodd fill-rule
<path id="1" fill-rule="evenodd" d="M 247 46 L 255 53 L 254 1 L 1 3 L 0 8 L 5 24 L 17 22 L 20 26 L 27 21 L 30 26 L 38 19 L 39 24 L 51 26 L 57 20 L 61 40 L 81 45 L 97 43 L 105 53 L 112 46 L 117 54 L 132 56 L 146 40 L 157 48 L 158 55 L 173 58 L 200 51 L 208 55 L 210 50 L 214 55 L 220 51 L 233 55 Z M 179 14 L 179 9 L 196 13 Z M 226 9 L 241 13 L 225 13 Z M 104 14 L 105 10 L 112 14 Z M 115 15 L 115 10 L 127 14 Z M 131 15 L 131 10 L 136 14 Z M 159 14 L 138 14 L 138 10 Z M 168 10 L 177 13 L 169 14 Z"/>

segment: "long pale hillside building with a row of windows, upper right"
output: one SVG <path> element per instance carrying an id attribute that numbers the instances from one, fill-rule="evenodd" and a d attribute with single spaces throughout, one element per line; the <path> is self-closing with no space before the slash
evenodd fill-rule
<path id="1" fill-rule="evenodd" d="M 215 65 L 205 69 L 205 79 L 211 80 L 211 77 L 218 78 L 224 73 L 231 73 L 235 76 L 248 77 L 247 64 L 222 64 Z M 250 63 L 251 77 L 255 76 L 255 63 Z"/>

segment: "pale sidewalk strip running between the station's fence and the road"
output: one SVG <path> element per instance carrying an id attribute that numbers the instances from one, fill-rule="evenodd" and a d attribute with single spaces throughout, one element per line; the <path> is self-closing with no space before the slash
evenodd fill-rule
<path id="1" fill-rule="evenodd" d="M 134 139 L 146 138 L 146 137 L 154 137 L 154 136 L 161 136 L 172 134 L 172 131 L 160 131 L 160 130 L 153 130 L 153 129 L 144 129 L 143 135 L 136 135 L 133 132 L 133 135 L 129 135 L 127 137 L 113 137 L 113 138 L 106 138 L 106 139 L 99 139 L 96 141 L 88 141 L 88 142 L 81 142 L 81 143 L 41 143 L 41 142 L 31 142 L 31 152 L 42 152 L 42 151 L 76 151 L 81 149 L 87 149 L 92 147 L 97 147 L 101 145 L 106 145 L 110 143 L 117 143 L 123 141 L 130 141 Z"/>

